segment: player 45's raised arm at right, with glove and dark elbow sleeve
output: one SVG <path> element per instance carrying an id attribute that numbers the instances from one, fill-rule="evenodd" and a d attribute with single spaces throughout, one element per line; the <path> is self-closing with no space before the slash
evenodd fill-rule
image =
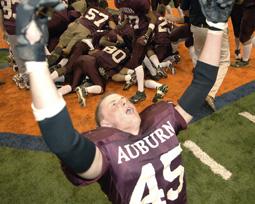
<path id="1" fill-rule="evenodd" d="M 187 123 L 201 108 L 217 77 L 223 29 L 234 0 L 200 0 L 202 11 L 210 26 L 204 48 L 197 62 L 193 80 L 179 100 L 177 111 Z"/>

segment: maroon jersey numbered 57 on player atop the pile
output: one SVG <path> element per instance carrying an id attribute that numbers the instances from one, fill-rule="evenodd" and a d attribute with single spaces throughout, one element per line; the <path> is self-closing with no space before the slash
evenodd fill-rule
<path id="1" fill-rule="evenodd" d="M 112 16 L 107 10 L 99 7 L 90 7 L 83 17 L 79 19 L 79 22 L 88 28 L 91 33 L 94 33 L 97 30 L 105 30 L 111 19 Z"/>

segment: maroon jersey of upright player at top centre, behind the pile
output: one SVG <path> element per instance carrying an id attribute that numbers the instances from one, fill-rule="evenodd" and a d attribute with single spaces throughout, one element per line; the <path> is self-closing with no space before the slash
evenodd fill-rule
<path id="1" fill-rule="evenodd" d="M 146 14 L 150 9 L 149 0 L 115 0 L 115 5 L 120 9 L 123 18 L 128 18 L 137 35 L 143 35 L 147 31 L 149 19 Z"/>

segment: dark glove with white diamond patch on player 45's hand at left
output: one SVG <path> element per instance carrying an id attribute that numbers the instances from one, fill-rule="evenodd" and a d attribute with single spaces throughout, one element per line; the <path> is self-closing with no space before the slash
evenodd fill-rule
<path id="1" fill-rule="evenodd" d="M 16 8 L 17 52 L 25 61 L 46 61 L 50 12 L 64 9 L 59 0 L 24 0 Z"/>

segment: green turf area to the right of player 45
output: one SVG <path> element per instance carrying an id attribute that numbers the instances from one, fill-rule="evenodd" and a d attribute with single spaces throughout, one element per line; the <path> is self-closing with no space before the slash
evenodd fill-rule
<path id="1" fill-rule="evenodd" d="M 255 124 L 238 115 L 244 111 L 255 115 L 255 93 L 200 120 L 181 133 L 182 142 L 194 141 L 232 172 L 229 180 L 223 180 L 183 147 L 189 203 L 255 202 Z"/>

